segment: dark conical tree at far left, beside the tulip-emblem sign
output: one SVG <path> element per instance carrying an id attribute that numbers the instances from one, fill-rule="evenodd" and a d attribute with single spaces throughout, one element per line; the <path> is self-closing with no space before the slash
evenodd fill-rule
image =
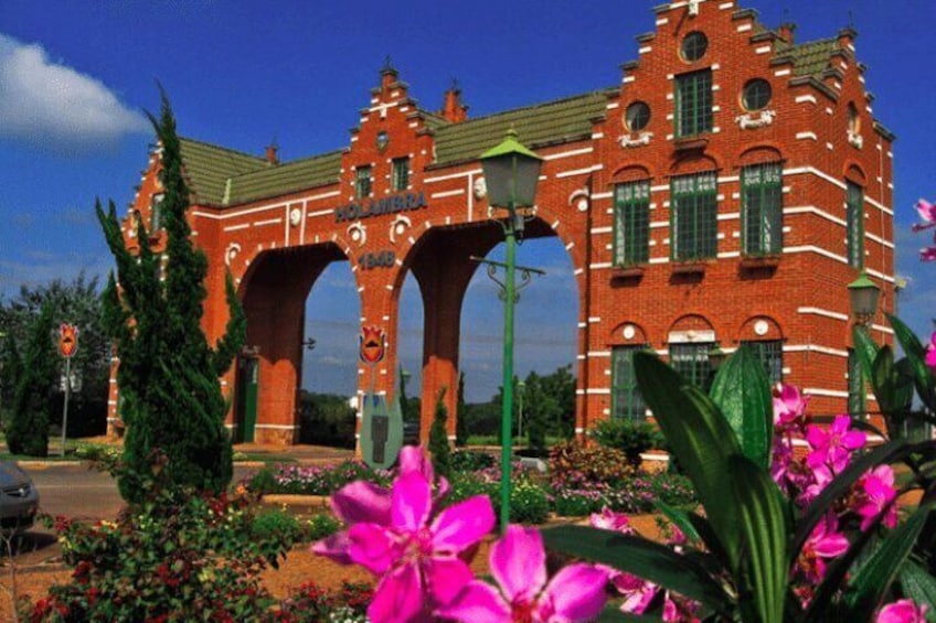
<path id="1" fill-rule="evenodd" d="M 49 454 L 49 420 L 55 390 L 49 379 L 55 376 L 59 359 L 52 340 L 55 326 L 52 314 L 51 304 L 42 307 L 29 329 L 22 358 L 19 355 L 13 358 L 17 385 L 6 422 L 7 447 L 13 454 Z"/>

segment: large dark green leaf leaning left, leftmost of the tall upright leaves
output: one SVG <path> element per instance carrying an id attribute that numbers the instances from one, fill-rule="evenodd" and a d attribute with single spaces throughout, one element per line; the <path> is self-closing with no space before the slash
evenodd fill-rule
<path id="1" fill-rule="evenodd" d="M 685 474 L 695 486 L 726 566 L 737 567 L 740 522 L 732 493 L 728 456 L 741 454 L 737 439 L 719 408 L 656 356 L 634 355 L 640 394 Z"/>

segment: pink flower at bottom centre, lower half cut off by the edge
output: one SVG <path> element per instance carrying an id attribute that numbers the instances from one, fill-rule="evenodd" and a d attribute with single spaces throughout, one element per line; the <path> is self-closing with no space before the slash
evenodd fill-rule
<path id="1" fill-rule="evenodd" d="M 474 580 L 436 614 L 462 623 L 573 623 L 597 617 L 607 600 L 608 572 L 596 565 L 570 565 L 546 583 L 535 528 L 509 526 L 491 547 L 490 570 L 499 591 Z"/>

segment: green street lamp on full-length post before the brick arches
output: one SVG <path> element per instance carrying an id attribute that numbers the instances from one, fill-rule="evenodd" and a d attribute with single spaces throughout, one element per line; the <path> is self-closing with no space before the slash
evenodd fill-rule
<path id="1" fill-rule="evenodd" d="M 517 303 L 514 281 L 517 238 L 523 235 L 523 214 L 519 207 L 532 207 L 536 198 L 542 158 L 523 147 L 511 128 L 503 141 L 482 153 L 479 158 L 488 189 L 488 205 L 507 210 L 501 223 L 507 243 L 506 261 L 486 261 L 488 275 L 493 278 L 498 267 L 504 269 L 503 296 L 503 415 L 501 419 L 501 479 L 500 479 L 500 529 L 507 531 L 510 522 L 510 459 L 513 445 L 513 307 Z M 542 272 L 519 267 L 523 271 L 523 283 L 529 283 L 530 272 Z M 497 281 L 497 279 L 494 279 Z"/>

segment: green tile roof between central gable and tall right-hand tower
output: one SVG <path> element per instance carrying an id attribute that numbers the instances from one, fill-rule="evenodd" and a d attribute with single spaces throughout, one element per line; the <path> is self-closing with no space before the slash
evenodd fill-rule
<path id="1" fill-rule="evenodd" d="M 435 165 L 477 159 L 481 152 L 499 143 L 511 127 L 529 148 L 591 137 L 592 120 L 607 114 L 609 93 L 617 93 L 617 89 L 596 90 L 440 126 L 435 131 Z"/>

